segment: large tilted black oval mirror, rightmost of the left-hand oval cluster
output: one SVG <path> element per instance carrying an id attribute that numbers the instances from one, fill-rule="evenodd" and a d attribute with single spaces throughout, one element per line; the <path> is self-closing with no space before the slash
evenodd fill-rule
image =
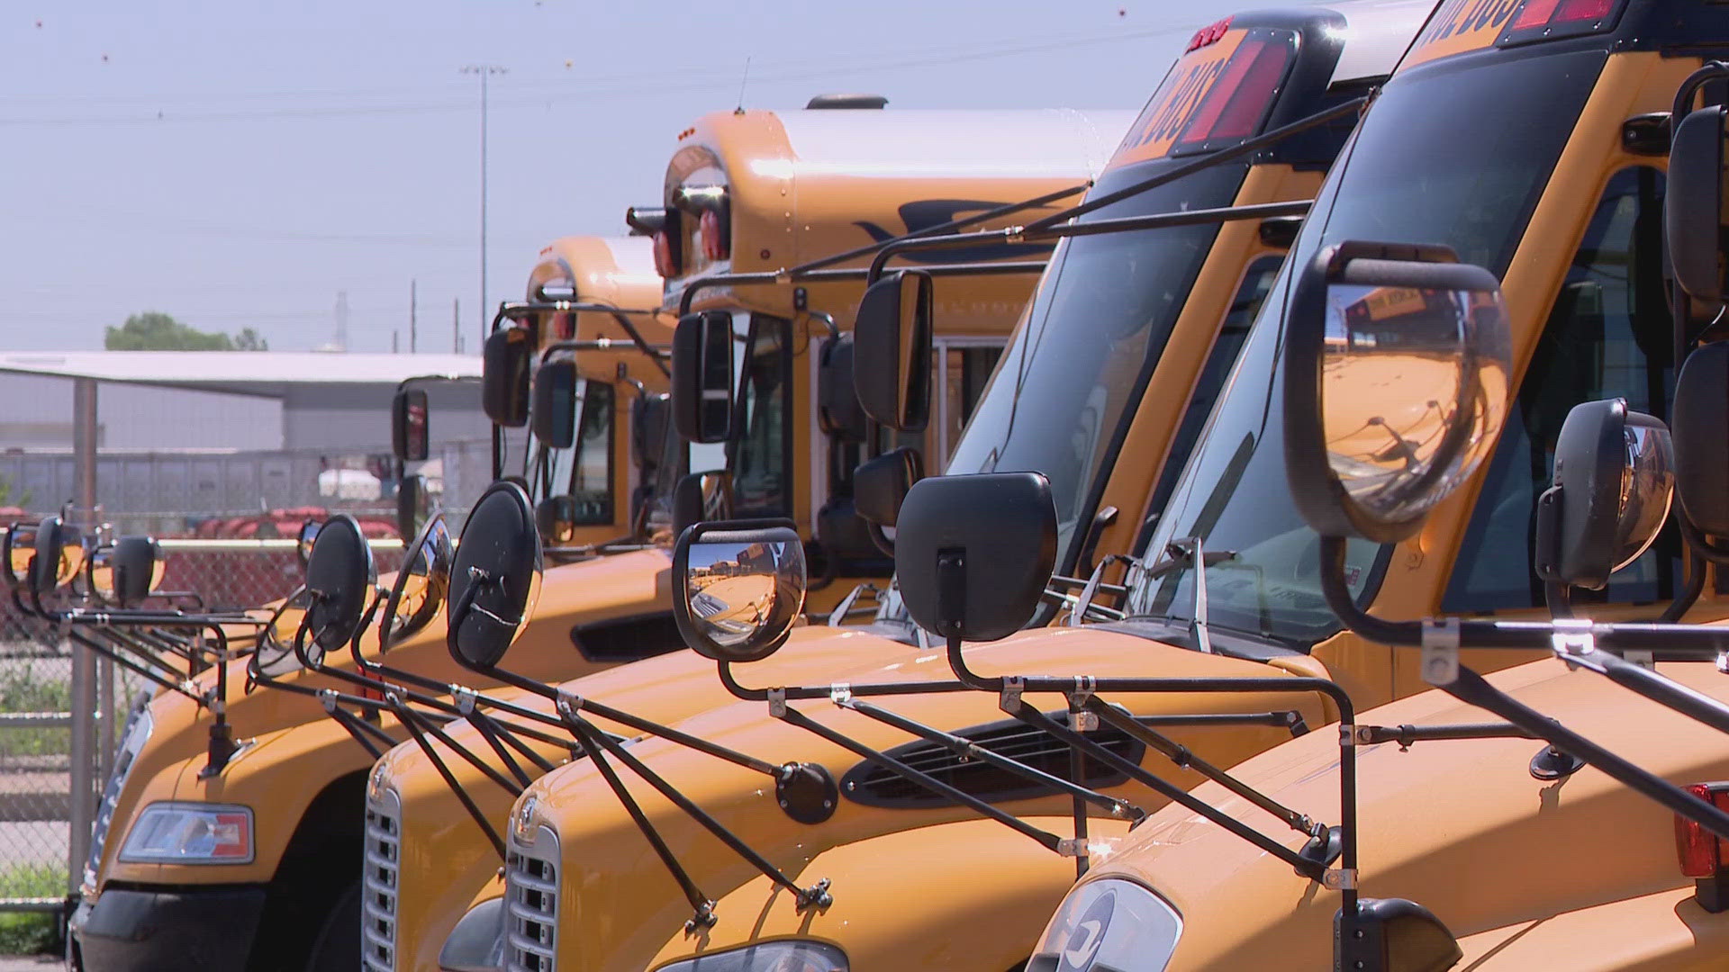
<path id="1" fill-rule="evenodd" d="M 539 597 L 541 545 L 522 486 L 493 483 L 469 512 L 450 571 L 451 655 L 491 669 L 522 633 Z"/>

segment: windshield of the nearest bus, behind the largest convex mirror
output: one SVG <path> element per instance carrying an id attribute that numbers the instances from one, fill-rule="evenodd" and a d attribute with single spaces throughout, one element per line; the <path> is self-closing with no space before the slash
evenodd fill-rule
<path id="1" fill-rule="evenodd" d="M 1603 62 L 1603 52 L 1459 55 L 1395 76 L 1364 116 L 1145 553 L 1152 566 L 1200 541 L 1210 626 L 1300 649 L 1338 631 L 1319 590 L 1319 538 L 1285 488 L 1278 361 L 1293 268 L 1357 239 L 1445 244 L 1503 277 Z M 1359 600 L 1381 553 L 1350 543 Z M 1195 569 L 1139 583 L 1129 614 L 1191 619 Z"/>

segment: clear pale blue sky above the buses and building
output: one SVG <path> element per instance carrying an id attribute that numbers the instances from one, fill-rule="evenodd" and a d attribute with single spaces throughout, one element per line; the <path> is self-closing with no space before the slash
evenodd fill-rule
<path id="1" fill-rule="evenodd" d="M 100 348 L 163 310 L 273 349 L 448 351 L 481 330 L 479 85 L 491 81 L 488 304 L 541 246 L 622 233 L 676 133 L 738 102 L 1139 107 L 1241 0 L 685 3 L 12 0 L 0 17 L 0 349 Z"/>

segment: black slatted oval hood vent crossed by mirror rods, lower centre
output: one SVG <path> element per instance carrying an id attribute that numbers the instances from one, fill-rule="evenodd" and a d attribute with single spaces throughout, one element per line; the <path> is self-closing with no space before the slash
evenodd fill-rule
<path id="1" fill-rule="evenodd" d="M 1067 713 L 1046 714 L 1058 723 L 1067 723 L 1069 719 Z M 1005 719 L 965 728 L 954 735 L 970 739 L 998 756 L 1006 756 L 1053 777 L 1069 778 L 1069 745 L 1025 723 Z M 1145 752 L 1139 742 L 1110 726 L 1091 730 L 1086 737 L 1134 763 L 1139 763 Z M 1048 787 L 1041 787 L 979 759 L 961 759 L 949 747 L 934 742 L 908 742 L 889 749 L 887 754 L 986 803 L 1032 799 L 1051 796 L 1053 792 Z M 1091 789 L 1113 787 L 1126 780 L 1122 773 L 1094 759 L 1082 763 L 1081 778 L 1082 785 Z M 868 761 L 859 763 L 840 778 L 840 792 L 854 803 L 890 809 L 923 809 L 949 804 L 946 797 Z"/>

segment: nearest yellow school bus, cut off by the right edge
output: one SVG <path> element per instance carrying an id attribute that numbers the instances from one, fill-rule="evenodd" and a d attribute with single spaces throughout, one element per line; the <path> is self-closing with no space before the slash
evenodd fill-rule
<path id="1" fill-rule="evenodd" d="M 1361 607 L 1373 604 L 1383 617 L 1458 619 L 1541 604 L 1544 579 L 1537 571 L 1554 566 L 1534 553 L 1532 538 L 1546 529 L 1535 502 L 1551 486 L 1551 458 L 1554 481 L 1561 481 L 1556 436 L 1573 405 L 1622 398 L 1629 412 L 1674 422 L 1677 469 L 1684 460 L 1720 464 L 1715 427 L 1708 438 L 1717 443 L 1703 455 L 1682 453 L 1688 412 L 1679 389 L 1670 398 L 1675 349 L 1701 334 L 1694 315 L 1713 315 L 1719 297 L 1693 301 L 1689 313 L 1688 294 L 1670 289 L 1667 275 L 1670 263 L 1689 258 L 1710 266 L 1720 261 L 1720 123 L 1708 119 L 1703 144 L 1712 192 L 1684 185 L 1679 133 L 1677 156 L 1668 150 L 1672 112 L 1694 106 L 1691 76 L 1726 52 L 1729 16 L 1712 3 L 1610 2 L 1591 10 L 1535 2 L 1437 5 L 1362 121 L 1350 161 L 1330 180 L 1316 218 L 1324 211 L 1331 220 L 1304 233 L 1293 263 L 1350 239 L 1449 246 L 1503 280 L 1513 365 L 1522 377 L 1485 472 L 1437 507 L 1414 538 L 1397 545 L 1350 541 L 1349 564 L 1368 581 Z M 1694 121 L 1688 116 L 1689 126 Z M 1665 247 L 1665 201 L 1670 220 L 1703 213 L 1710 223 L 1703 247 L 1689 253 L 1675 246 L 1674 227 Z M 1672 301 L 1684 339 L 1670 330 Z M 1273 306 L 1245 351 L 1243 374 L 1252 361 L 1274 360 L 1269 344 L 1292 327 Z M 1686 370 L 1707 351 L 1722 360 L 1724 349 L 1707 344 L 1691 351 Z M 1713 384 L 1708 394 L 1720 400 L 1720 374 Z M 1243 403 L 1233 413 L 1228 401 L 1209 446 L 1222 438 L 1224 450 L 1224 439 L 1241 434 L 1254 415 L 1266 427 L 1279 424 L 1260 405 Z M 1279 451 L 1276 441 L 1269 444 Z M 1196 464 L 1191 472 L 1203 469 Z M 1191 488 L 1203 495 L 1212 477 L 1195 476 Z M 1221 547 L 1295 548 L 1316 540 L 1274 486 L 1240 493 L 1228 508 L 1254 502 L 1260 526 L 1257 533 L 1221 533 L 1231 519 L 1226 514 L 1212 531 Z M 1691 505 L 1686 493 L 1681 500 Z M 1688 522 L 1691 515 L 1694 510 L 1677 510 L 1675 519 Z M 1186 529 L 1184 521 L 1172 529 Z M 1589 654 L 1592 640 L 1598 654 L 1610 654 L 1603 623 L 1672 617 L 1689 604 L 1686 619 L 1720 621 L 1720 588 L 1701 583 L 1703 560 L 1682 569 L 1693 548 L 1691 540 L 1682 550 L 1660 534 L 1618 574 L 1605 574 L 1599 593 L 1572 604 L 1575 616 L 1599 628 L 1558 628 L 1554 654 L 1577 659 Z M 1274 564 L 1259 562 L 1271 576 Z M 1700 583 L 1703 593 L 1688 581 Z M 1710 635 L 1710 628 L 1698 633 Z M 1618 650 L 1629 659 L 1639 649 L 1649 655 L 1667 636 L 1653 631 Z M 1490 654 L 1461 649 L 1461 673 L 1480 668 Z M 1461 676 L 1447 675 L 1445 664 L 1439 675 L 1425 675 L 1425 655 L 1414 649 L 1395 655 L 1400 685 L 1426 680 L 1442 688 L 1357 713 L 1364 739 L 1356 745 L 1359 847 L 1350 889 L 1357 901 L 1407 899 L 1426 910 L 1430 918 L 1411 922 L 1423 930 L 1397 943 L 1397 955 L 1409 962 L 1404 967 L 1720 967 L 1729 934 L 1720 839 L 1629 778 L 1598 763 L 1575 763 L 1585 758 L 1584 749 L 1485 732 L 1490 719 L 1508 718 L 1511 709 L 1496 699 L 1504 695 L 1634 768 L 1698 785 L 1696 796 L 1720 808 L 1717 782 L 1729 775 L 1720 723 L 1710 728 L 1698 716 L 1611 685 L 1591 666 L 1563 661 L 1492 675 L 1485 681 L 1494 692 L 1470 695 L 1466 704 L 1456 697 Z M 1694 692 L 1707 714 L 1729 697 L 1720 671 L 1708 662 L 1658 661 L 1653 671 Z M 1378 728 L 1364 732 L 1371 726 Z M 1440 735 L 1461 728 L 1459 739 Z M 1340 820 L 1342 751 L 1338 740 L 1326 742 L 1293 740 L 1233 773 L 1285 806 Z M 1195 796 L 1266 823 L 1215 785 Z M 1146 969 L 1323 967 L 1335 960 L 1335 915 L 1342 910 L 1340 892 L 1298 877 L 1190 809 L 1167 808 L 1075 886 L 1051 918 L 1034 967 L 1089 969 L 1094 958 L 1107 967 L 1129 937 Z M 1108 930 L 1093 941 L 1084 922 Z M 1065 951 L 1084 960 L 1070 962 Z M 1376 960 L 1366 956 L 1364 969 L 1385 967 Z"/>

